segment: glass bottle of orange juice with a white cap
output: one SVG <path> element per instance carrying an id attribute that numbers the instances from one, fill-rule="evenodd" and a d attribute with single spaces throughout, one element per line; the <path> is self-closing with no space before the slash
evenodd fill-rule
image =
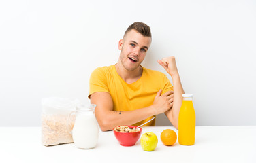
<path id="1" fill-rule="evenodd" d="M 193 145 L 195 143 L 195 109 L 193 94 L 182 94 L 183 101 L 178 115 L 178 143 Z"/>

